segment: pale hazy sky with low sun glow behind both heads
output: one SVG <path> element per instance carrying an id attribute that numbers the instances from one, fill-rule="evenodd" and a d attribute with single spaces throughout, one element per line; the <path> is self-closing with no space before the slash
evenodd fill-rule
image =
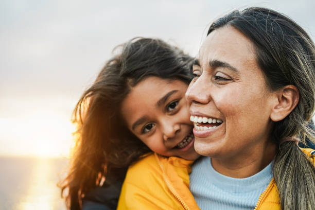
<path id="1" fill-rule="evenodd" d="M 249 6 L 290 16 L 315 40 L 315 1 L 0 2 L 0 155 L 68 156 L 71 114 L 112 49 L 161 38 L 191 56 L 217 17 Z"/>

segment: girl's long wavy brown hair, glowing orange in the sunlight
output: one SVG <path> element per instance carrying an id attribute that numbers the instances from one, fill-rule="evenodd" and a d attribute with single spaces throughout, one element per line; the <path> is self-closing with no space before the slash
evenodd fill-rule
<path id="1" fill-rule="evenodd" d="M 124 179 L 126 168 L 150 152 L 120 116 L 120 104 L 131 88 L 151 76 L 187 84 L 192 77 L 193 58 L 162 40 L 134 38 L 115 49 L 120 54 L 105 64 L 73 112 L 76 145 L 71 168 L 59 184 L 62 195 L 67 191 L 69 209 L 80 209 L 84 195 L 99 186 L 101 178 Z"/>

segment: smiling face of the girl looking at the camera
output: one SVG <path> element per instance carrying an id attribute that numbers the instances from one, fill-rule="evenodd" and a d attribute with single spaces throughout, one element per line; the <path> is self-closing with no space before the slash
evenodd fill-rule
<path id="1" fill-rule="evenodd" d="M 164 156 L 195 160 L 193 123 L 181 80 L 148 77 L 135 85 L 122 101 L 128 128 L 152 151 Z"/>

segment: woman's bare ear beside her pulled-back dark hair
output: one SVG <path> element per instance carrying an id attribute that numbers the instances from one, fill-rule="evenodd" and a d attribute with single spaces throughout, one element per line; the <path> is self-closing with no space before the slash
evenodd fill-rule
<path id="1" fill-rule="evenodd" d="M 271 110 L 272 121 L 283 120 L 298 105 L 300 100 L 299 90 L 294 85 L 286 85 L 275 92 L 277 101 Z"/>

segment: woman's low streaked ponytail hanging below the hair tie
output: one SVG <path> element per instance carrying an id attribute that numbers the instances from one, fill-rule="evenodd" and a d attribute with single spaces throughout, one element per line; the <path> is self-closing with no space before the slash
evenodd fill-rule
<path id="1" fill-rule="evenodd" d="M 273 177 L 282 210 L 314 209 L 315 167 L 294 141 L 279 145 Z"/>

